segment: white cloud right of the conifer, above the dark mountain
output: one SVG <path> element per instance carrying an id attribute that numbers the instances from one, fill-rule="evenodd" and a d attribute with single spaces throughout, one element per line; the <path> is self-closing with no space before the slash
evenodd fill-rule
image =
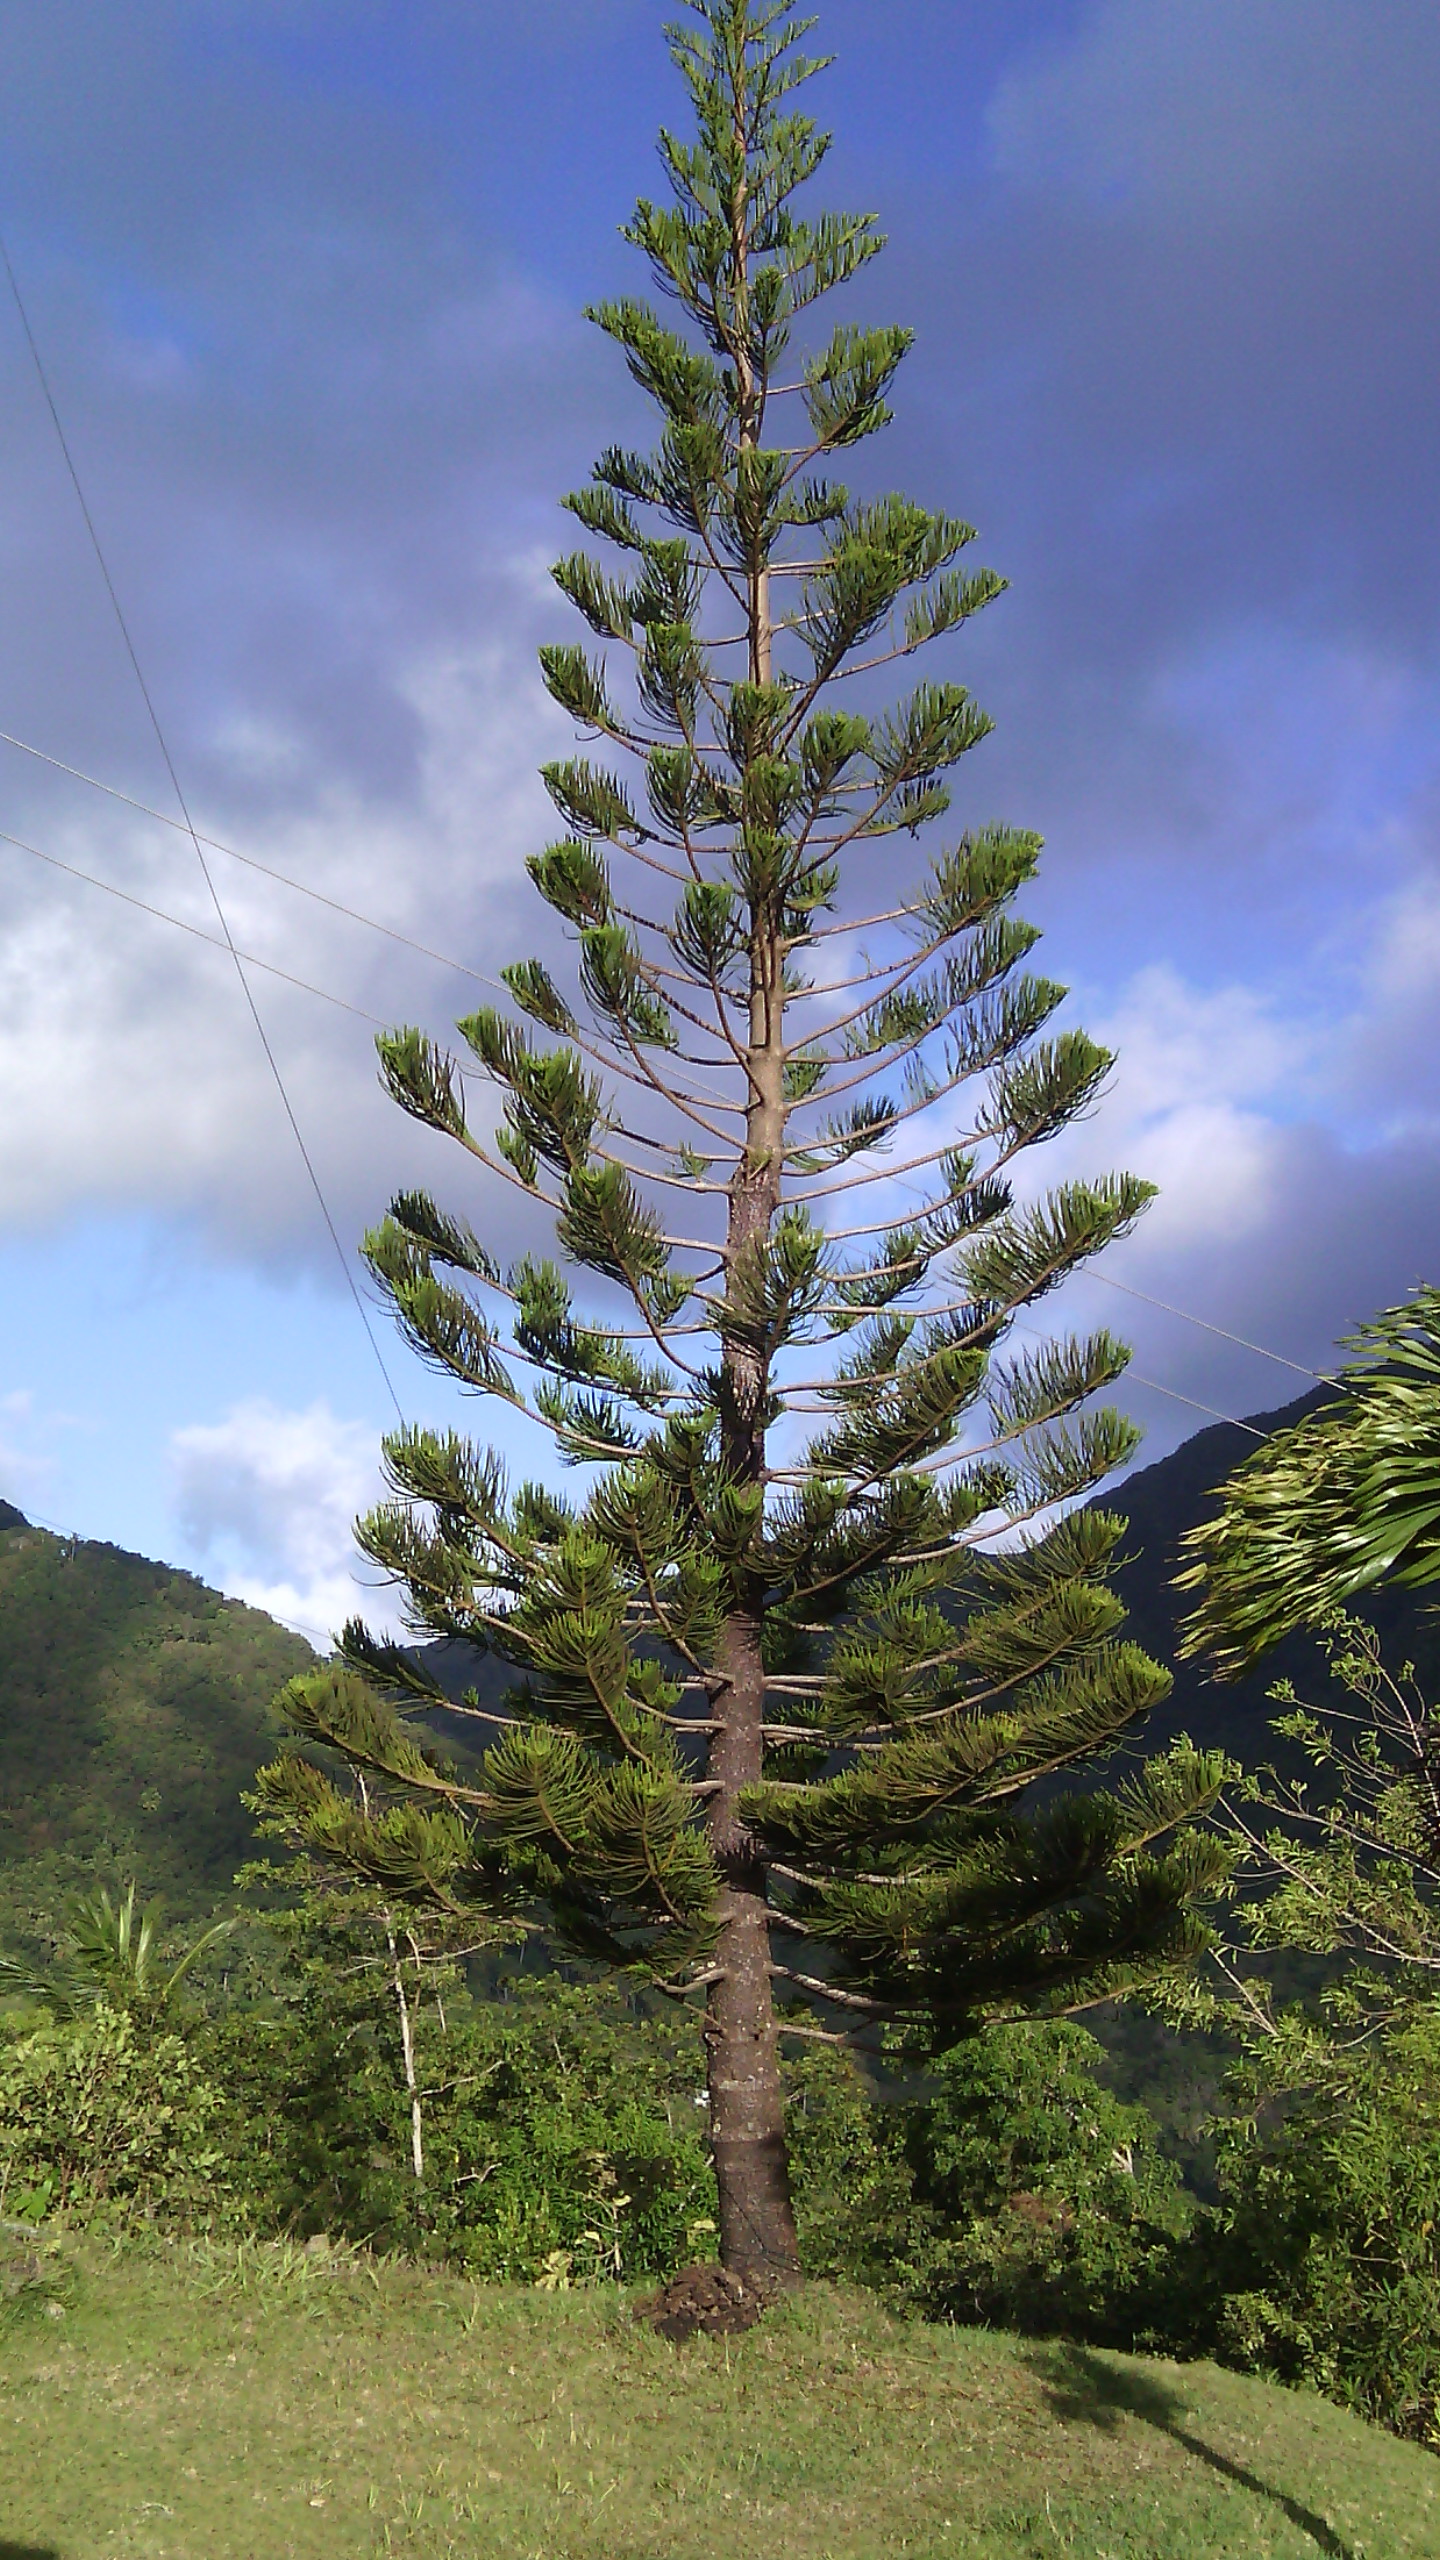
<path id="1" fill-rule="evenodd" d="M 1422 1062 L 1420 1091 L 1425 1075 L 1435 1088 L 1440 919 L 1427 883 L 1379 906 L 1350 957 L 1330 1011 L 1314 991 L 1286 1009 L 1166 968 L 1143 970 L 1097 1024 L 1120 1052 L 1112 1096 L 1048 1149 L 1048 1172 L 1125 1162 L 1161 1185 L 1068 1311 L 1133 1341 L 1127 1393 L 1140 1390 L 1150 1454 L 1197 1428 L 1197 1403 L 1289 1403 L 1355 1324 L 1440 1275 L 1440 1121 L 1417 1108 L 1396 1124 L 1371 1106 L 1394 1093 L 1404 1052 Z"/>

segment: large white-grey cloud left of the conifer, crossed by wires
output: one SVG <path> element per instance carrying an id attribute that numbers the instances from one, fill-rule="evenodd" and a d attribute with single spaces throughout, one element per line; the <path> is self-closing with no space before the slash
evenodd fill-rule
<path id="1" fill-rule="evenodd" d="M 407 804 L 366 799 L 274 722 L 264 735 L 241 724 L 223 748 L 233 799 L 264 776 L 282 806 L 264 824 L 243 806 L 231 819 L 220 786 L 202 824 L 484 973 L 525 947 L 533 924 L 512 909 L 536 904 L 523 855 L 543 840 L 536 763 L 553 753 L 556 722 L 528 650 L 507 663 L 495 645 L 448 648 L 418 660 L 402 691 L 418 730 Z M 28 786 L 18 763 L 8 758 L 5 778 Z M 41 850 L 215 937 L 182 835 L 44 773 L 26 829 Z M 356 1019 L 251 973 L 320 1180 L 354 1234 L 433 1160 L 377 1088 L 366 1016 L 446 1037 L 487 991 L 218 852 L 210 868 L 241 950 L 359 1006 Z M 328 1260 L 228 955 L 3 847 L 0 916 L 0 1091 L 23 1096 L 0 1119 L 0 1221 L 138 1208 L 179 1216 L 243 1260 Z"/>

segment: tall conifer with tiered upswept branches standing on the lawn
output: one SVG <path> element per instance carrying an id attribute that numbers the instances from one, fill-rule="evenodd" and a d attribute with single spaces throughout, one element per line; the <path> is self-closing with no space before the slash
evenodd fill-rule
<path id="1" fill-rule="evenodd" d="M 492 1144 L 456 1060 L 379 1042 L 397 1103 L 630 1313 L 395 1201 L 366 1252 L 410 1341 L 592 1475 L 574 1500 L 510 1492 L 495 1452 L 395 1434 L 361 1544 L 418 1633 L 515 1664 L 502 1733 L 461 1782 L 397 1713 L 438 1697 L 423 1661 L 348 1628 L 290 1700 L 372 1812 L 297 1756 L 264 1787 L 389 1892 L 515 1910 L 705 1992 L 720 2248 L 764 2289 L 797 2263 L 776 1984 L 833 2020 L 797 2033 L 928 2017 L 945 2040 L 1109 1997 L 1204 1940 L 1222 1856 L 1181 1830 L 1217 1787 L 1204 1759 L 1056 1787 L 1168 1677 L 1117 1641 L 1122 1523 L 1074 1508 L 1135 1446 L 1092 1405 L 1125 1349 L 999 1357 L 1148 1198 L 1127 1175 L 1015 1190 L 1109 1068 L 1045 1029 L 1063 988 L 1025 970 L 1012 901 L 1040 847 L 981 827 L 915 883 L 889 852 L 945 814 L 989 719 L 951 681 L 881 712 L 866 673 L 1004 581 L 963 566 L 958 517 L 828 476 L 887 425 L 910 330 L 789 353 L 881 241 L 871 215 L 797 210 L 828 138 L 794 110 L 820 64 L 789 5 L 684 5 L 694 138 L 661 133 L 671 202 L 625 233 L 679 328 L 592 312 L 661 443 L 610 448 L 566 499 L 618 556 L 556 566 L 610 653 L 541 653 L 638 781 L 543 773 L 566 832 L 528 868 L 579 998 L 525 960 L 505 970 L 523 1021 L 461 1024 L 505 1096 Z"/>

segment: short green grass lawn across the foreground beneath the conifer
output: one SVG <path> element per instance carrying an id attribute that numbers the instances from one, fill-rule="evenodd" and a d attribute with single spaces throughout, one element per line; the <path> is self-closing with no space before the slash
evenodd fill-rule
<path id="1" fill-rule="evenodd" d="M 1440 2463 L 1212 2365 L 815 2289 L 671 2348 L 618 2294 L 72 2245 L 0 2332 L 0 2560 L 1435 2560 Z"/>

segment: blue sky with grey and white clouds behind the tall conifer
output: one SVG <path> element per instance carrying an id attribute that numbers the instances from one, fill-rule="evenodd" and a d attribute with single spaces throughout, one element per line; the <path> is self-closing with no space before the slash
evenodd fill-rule
<path id="1" fill-rule="evenodd" d="M 651 0 L 10 0 L 0 218 L 197 822 L 451 952 L 530 945 L 556 497 L 641 420 L 584 300 L 679 110 Z M 1163 1196 L 1115 1277 L 1322 1362 L 1440 1267 L 1440 18 L 830 0 L 830 192 L 917 328 L 884 456 L 1012 579 L 966 814 Z M 15 315 L 0 730 L 161 812 Z M 0 827 L 205 927 L 184 840 L 0 745 Z M 443 1032 L 441 968 L 218 860 L 246 950 Z M 218 952 L 0 847 L 0 1492 L 302 1623 L 387 1390 Z M 346 1242 L 454 1175 L 369 1024 L 256 975 Z M 502 1201 L 471 1201 L 507 1221 Z M 1150 1449 L 1302 1380 L 1104 1285 Z M 407 1411 L 438 1382 L 387 1341 Z M 1168 1393 L 1161 1393 L 1168 1390 Z"/>

